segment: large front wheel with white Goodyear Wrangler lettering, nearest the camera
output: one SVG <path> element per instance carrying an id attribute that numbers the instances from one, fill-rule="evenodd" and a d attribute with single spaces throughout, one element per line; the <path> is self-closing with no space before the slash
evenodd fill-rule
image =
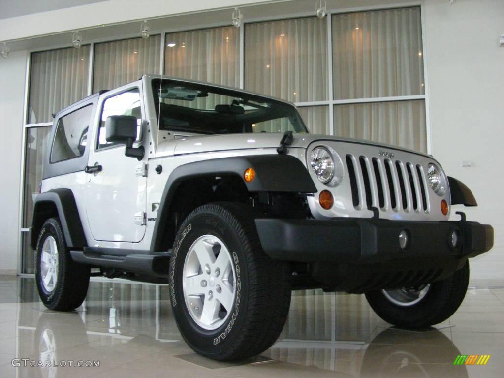
<path id="1" fill-rule="evenodd" d="M 187 344 L 214 360 L 264 352 L 289 312 L 289 265 L 264 253 L 251 214 L 241 204 L 203 205 L 187 216 L 175 238 L 169 272 L 173 316 Z"/>

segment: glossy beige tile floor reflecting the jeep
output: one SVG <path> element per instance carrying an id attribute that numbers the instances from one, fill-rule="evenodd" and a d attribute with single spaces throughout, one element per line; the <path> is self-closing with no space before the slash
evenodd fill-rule
<path id="1" fill-rule="evenodd" d="M 454 366 L 459 354 L 491 357 Z M 15 367 L 15 358 L 100 365 Z M 0 276 L 0 365 L 2 378 L 502 377 L 504 289 L 470 289 L 452 318 L 423 332 L 392 328 L 362 295 L 294 292 L 279 340 L 232 364 L 185 344 L 166 286 L 93 281 L 83 306 L 64 313 L 40 303 L 33 278 Z"/>

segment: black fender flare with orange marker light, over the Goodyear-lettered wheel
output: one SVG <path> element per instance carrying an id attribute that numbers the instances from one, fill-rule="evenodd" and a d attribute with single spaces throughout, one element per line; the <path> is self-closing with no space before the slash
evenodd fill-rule
<path id="1" fill-rule="evenodd" d="M 245 182 L 243 173 L 254 168 L 256 178 Z M 178 186 L 185 180 L 206 176 L 241 177 L 248 192 L 317 193 L 306 167 L 296 157 L 281 154 L 233 156 L 180 165 L 166 181 L 154 224 L 151 251 L 160 250 L 171 201 Z"/>

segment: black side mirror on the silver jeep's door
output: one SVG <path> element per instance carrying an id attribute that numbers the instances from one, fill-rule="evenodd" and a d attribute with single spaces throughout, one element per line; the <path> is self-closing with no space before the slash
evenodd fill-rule
<path id="1" fill-rule="evenodd" d="M 142 160 L 145 154 L 144 146 L 133 147 L 137 139 L 137 117 L 133 115 L 110 115 L 105 120 L 105 139 L 107 142 L 124 143 L 124 155 Z"/>

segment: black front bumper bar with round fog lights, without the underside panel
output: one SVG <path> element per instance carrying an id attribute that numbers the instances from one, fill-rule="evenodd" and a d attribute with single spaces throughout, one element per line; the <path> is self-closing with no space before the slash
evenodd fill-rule
<path id="1" fill-rule="evenodd" d="M 256 219 L 261 244 L 275 260 L 348 264 L 385 263 L 409 258 L 457 259 L 483 254 L 493 246 L 493 228 L 477 222 L 413 222 L 338 218 Z M 399 244 L 406 231 L 408 243 Z M 452 233 L 458 242 L 451 245 Z"/>

